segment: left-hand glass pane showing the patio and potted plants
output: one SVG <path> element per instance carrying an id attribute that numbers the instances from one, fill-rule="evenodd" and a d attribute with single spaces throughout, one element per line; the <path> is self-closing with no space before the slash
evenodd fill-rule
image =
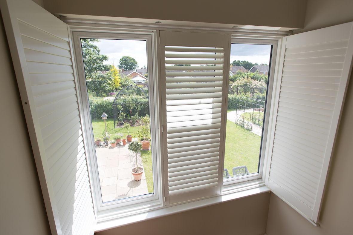
<path id="1" fill-rule="evenodd" d="M 102 202 L 153 193 L 146 41 L 81 43 Z"/>

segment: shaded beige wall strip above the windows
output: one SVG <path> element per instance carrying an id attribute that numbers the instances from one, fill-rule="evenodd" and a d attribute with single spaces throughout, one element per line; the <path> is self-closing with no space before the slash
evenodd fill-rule
<path id="1" fill-rule="evenodd" d="M 303 28 L 306 2 L 44 0 L 44 7 L 52 13 Z"/>

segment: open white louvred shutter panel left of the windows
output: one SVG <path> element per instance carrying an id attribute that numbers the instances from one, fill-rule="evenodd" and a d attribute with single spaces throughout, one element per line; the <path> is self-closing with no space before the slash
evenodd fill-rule
<path id="1" fill-rule="evenodd" d="M 30 0 L 1 1 L 1 12 L 52 234 L 93 234 L 67 26 Z"/>

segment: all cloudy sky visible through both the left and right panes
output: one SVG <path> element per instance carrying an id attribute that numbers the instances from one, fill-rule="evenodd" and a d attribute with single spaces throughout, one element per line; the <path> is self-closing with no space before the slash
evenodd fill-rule
<path id="1" fill-rule="evenodd" d="M 101 50 L 101 54 L 108 55 L 109 59 L 104 64 L 119 65 L 122 56 L 131 56 L 138 62 L 138 68 L 147 67 L 146 42 L 139 40 L 113 40 L 101 39 L 94 42 Z M 231 46 L 231 60 L 247 60 L 253 64 L 269 64 L 270 45 L 236 44 Z"/>

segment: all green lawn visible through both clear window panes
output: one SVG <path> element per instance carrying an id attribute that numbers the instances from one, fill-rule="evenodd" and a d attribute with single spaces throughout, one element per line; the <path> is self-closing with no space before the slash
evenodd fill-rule
<path id="1" fill-rule="evenodd" d="M 232 111 L 232 110 L 228 110 Z M 92 120 L 94 138 L 101 138 L 105 133 L 104 120 Z M 129 133 L 138 131 L 141 127 L 130 127 Z M 127 135 L 126 128 L 114 128 L 113 119 L 107 119 L 107 131 L 114 135 L 122 133 Z M 246 165 L 250 173 L 257 172 L 259 162 L 259 150 L 261 137 L 245 130 L 242 127 L 235 125 L 232 121 L 227 120 L 226 131 L 226 149 L 224 168 L 228 169 L 232 176 L 233 167 Z M 152 154 L 151 150 L 141 151 L 143 167 L 147 180 L 148 192 L 153 192 L 153 177 L 152 177 Z"/>

